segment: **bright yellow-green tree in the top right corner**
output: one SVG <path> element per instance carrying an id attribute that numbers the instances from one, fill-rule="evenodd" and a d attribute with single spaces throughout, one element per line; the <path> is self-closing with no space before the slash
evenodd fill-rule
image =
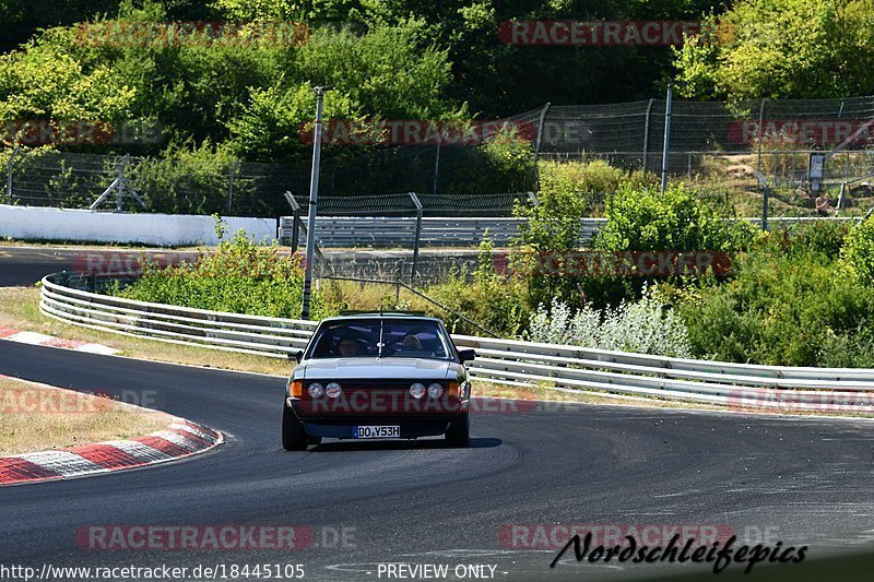
<path id="1" fill-rule="evenodd" d="M 818 98 L 874 92 L 874 2 L 741 0 L 675 52 L 686 97 Z"/>

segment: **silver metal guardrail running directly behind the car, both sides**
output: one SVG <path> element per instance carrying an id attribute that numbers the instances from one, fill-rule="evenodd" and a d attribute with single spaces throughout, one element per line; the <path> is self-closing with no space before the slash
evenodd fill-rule
<path id="1" fill-rule="evenodd" d="M 55 273 L 43 278 L 45 314 L 86 328 L 163 342 L 287 357 L 317 323 L 134 301 L 82 287 L 93 277 Z M 76 288 L 80 287 L 80 288 Z M 758 366 L 577 346 L 454 335 L 477 357 L 471 375 L 510 384 L 547 382 L 565 390 L 656 396 L 736 407 L 874 414 L 874 370 Z"/>

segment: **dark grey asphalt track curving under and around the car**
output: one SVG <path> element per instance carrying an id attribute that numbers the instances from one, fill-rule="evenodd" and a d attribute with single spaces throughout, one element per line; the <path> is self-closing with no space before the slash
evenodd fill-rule
<path id="1" fill-rule="evenodd" d="M 327 441 L 287 453 L 282 379 L 7 342 L 0 373 L 140 394 L 228 438 L 170 465 L 0 488 L 0 563 L 303 563 L 305 580 L 378 580 L 377 562 L 485 563 L 501 580 L 590 579 L 629 571 L 572 559 L 551 570 L 555 549 L 508 547 L 499 532 L 720 524 L 752 543 L 768 532 L 771 545 L 810 545 L 808 560 L 870 548 L 874 533 L 874 424 L 864 420 L 544 406 L 480 413 L 464 450 L 441 440 Z M 76 545 L 80 527 L 114 524 L 292 524 L 315 539 L 306 549 L 246 553 Z"/>

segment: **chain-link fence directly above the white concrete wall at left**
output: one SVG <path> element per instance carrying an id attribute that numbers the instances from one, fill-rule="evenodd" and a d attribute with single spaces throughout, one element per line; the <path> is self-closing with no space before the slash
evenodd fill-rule
<path id="1" fill-rule="evenodd" d="M 309 183 L 307 175 L 287 166 L 233 159 L 199 162 L 40 150 L 10 151 L 4 157 L 0 200 L 27 206 L 87 209 L 97 203 L 97 210 L 276 216 L 285 212 L 282 193 L 290 188 L 304 190 Z"/>

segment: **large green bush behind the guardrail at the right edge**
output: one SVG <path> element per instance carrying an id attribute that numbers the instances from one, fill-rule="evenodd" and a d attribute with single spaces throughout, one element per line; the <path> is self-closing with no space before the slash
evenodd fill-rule
<path id="1" fill-rule="evenodd" d="M 732 281 L 705 284 L 698 300 L 680 305 L 696 356 L 820 366 L 836 360 L 839 345 L 867 349 L 858 330 L 874 322 L 874 289 L 842 276 L 836 261 L 763 252 L 737 266 Z"/>

